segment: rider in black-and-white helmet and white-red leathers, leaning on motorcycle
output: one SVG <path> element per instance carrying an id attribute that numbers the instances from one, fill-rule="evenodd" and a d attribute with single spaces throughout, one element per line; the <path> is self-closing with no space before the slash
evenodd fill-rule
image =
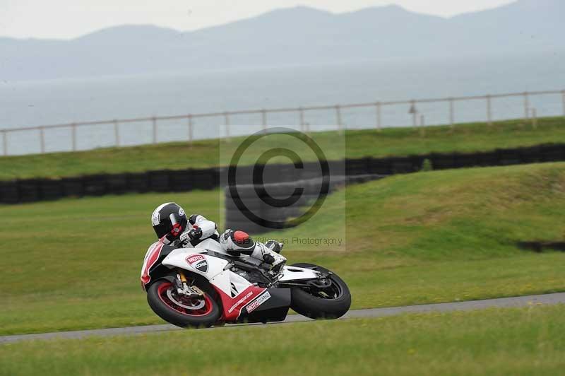
<path id="1" fill-rule="evenodd" d="M 249 255 L 268 264 L 273 271 L 279 271 L 287 260 L 279 254 L 281 250 L 279 242 L 274 240 L 269 240 L 266 244 L 254 242 L 243 231 L 225 230 L 220 235 L 218 226 L 214 222 L 198 214 L 186 218 L 184 209 L 174 202 L 158 206 L 153 211 L 151 223 L 157 237 L 165 244 L 191 248 L 205 239 L 213 239 L 218 241 L 228 254 L 236 257 L 241 254 Z"/>

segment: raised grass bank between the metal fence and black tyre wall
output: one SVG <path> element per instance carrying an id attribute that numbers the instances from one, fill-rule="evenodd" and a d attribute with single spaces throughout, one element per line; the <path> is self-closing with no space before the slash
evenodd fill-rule
<path id="1" fill-rule="evenodd" d="M 345 136 L 328 131 L 312 136 L 328 159 L 338 160 L 346 157 L 383 157 L 431 152 L 464 153 L 563 142 L 565 141 L 564 123 L 563 117 L 554 117 L 539 119 L 537 129 L 524 124 L 523 120 L 511 120 L 496 122 L 493 126 L 472 123 L 458 124 L 455 129 L 425 127 L 422 129 L 425 136 L 422 136 L 420 129 L 411 128 L 390 128 L 381 132 L 346 131 Z M 345 151 L 342 148 L 335 148 L 336 144 L 343 144 L 343 137 L 345 137 Z M 269 147 L 278 147 L 289 142 L 286 139 L 281 141 L 281 138 L 274 136 L 263 141 Z M 174 155 L 175 160 L 173 169 L 215 167 L 227 165 L 229 160 L 222 156 L 233 155 L 232 148 L 237 147 L 242 140 L 237 138 L 235 142 L 222 143 L 221 148 L 220 141 L 214 139 L 196 141 L 192 146 L 186 142 L 161 143 L 129 148 L 102 148 L 77 153 L 0 157 L 0 180 L 171 169 L 171 155 Z M 292 150 L 303 155 L 304 160 L 315 158 L 315 155 L 309 155 L 306 146 L 302 143 L 297 143 Z M 246 153 L 241 165 L 255 163 L 257 157 L 258 155 L 254 153 Z"/>

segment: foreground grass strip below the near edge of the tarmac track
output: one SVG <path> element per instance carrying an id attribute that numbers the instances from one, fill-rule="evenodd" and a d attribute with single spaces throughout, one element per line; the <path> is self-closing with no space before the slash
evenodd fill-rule
<path id="1" fill-rule="evenodd" d="M 559 375 L 565 306 L 0 346 L 0 375 Z"/>

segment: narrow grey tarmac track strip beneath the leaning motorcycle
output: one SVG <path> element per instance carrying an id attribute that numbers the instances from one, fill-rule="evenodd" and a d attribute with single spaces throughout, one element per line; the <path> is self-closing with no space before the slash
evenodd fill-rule
<path id="1" fill-rule="evenodd" d="M 369 310 L 352 310 L 341 319 L 356 319 L 365 317 L 384 317 L 401 315 L 406 313 L 425 313 L 425 312 L 450 312 L 482 310 L 491 307 L 527 307 L 528 305 L 554 305 L 565 304 L 565 293 L 555 293 L 546 295 L 518 296 L 515 298 L 499 298 L 489 300 L 472 300 L 468 302 L 451 302 L 427 305 L 409 305 L 406 307 L 373 308 Z M 301 315 L 290 315 L 284 322 L 273 322 L 267 325 L 284 324 L 289 322 L 313 321 Z M 265 324 L 232 324 L 225 327 L 212 327 L 210 329 L 198 330 L 221 330 L 233 327 L 248 327 L 251 325 Z M 0 336 L 1 343 L 13 343 L 18 341 L 30 341 L 35 339 L 80 339 L 90 336 L 120 336 L 135 334 L 150 334 L 162 331 L 183 330 L 170 324 L 147 325 L 144 327 L 109 328 L 79 331 L 58 331 L 54 333 L 42 334 L 21 334 L 14 336 Z"/>

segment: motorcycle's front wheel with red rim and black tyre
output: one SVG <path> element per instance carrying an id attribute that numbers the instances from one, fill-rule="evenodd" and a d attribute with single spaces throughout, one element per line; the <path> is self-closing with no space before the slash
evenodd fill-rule
<path id="1" fill-rule="evenodd" d="M 196 287 L 204 296 L 187 300 L 177 294 L 170 281 L 160 279 L 148 289 L 147 301 L 153 312 L 177 327 L 211 327 L 221 315 L 215 292 L 205 281 L 198 281 Z"/>

